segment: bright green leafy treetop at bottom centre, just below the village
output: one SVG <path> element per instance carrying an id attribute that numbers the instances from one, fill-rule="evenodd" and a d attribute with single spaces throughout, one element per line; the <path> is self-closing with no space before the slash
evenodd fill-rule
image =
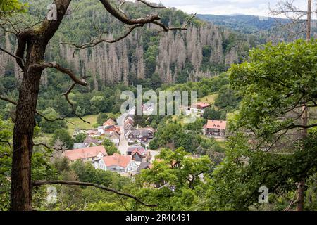
<path id="1" fill-rule="evenodd" d="M 161 150 L 152 169 L 144 169 L 137 176 L 137 195 L 157 204 L 156 210 L 202 210 L 206 179 L 211 169 L 208 157 L 189 158 L 178 148 Z M 152 186 L 161 188 L 151 188 Z M 141 208 L 142 209 L 142 208 Z"/>

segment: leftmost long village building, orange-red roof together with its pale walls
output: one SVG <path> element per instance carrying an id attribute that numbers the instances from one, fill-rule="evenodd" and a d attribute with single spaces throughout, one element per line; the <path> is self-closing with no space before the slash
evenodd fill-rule
<path id="1" fill-rule="evenodd" d="M 104 146 L 94 146 L 89 148 L 77 148 L 73 150 L 66 150 L 62 155 L 70 162 L 82 160 L 82 162 L 94 161 L 108 155 Z"/>

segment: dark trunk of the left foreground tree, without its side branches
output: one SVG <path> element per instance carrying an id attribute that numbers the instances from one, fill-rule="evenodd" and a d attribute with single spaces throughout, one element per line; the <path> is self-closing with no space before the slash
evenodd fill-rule
<path id="1" fill-rule="evenodd" d="M 71 0 L 55 0 L 56 20 L 47 17 L 40 27 L 18 34 L 16 60 L 23 69 L 13 131 L 10 210 L 32 210 L 31 158 L 39 82 L 45 49 L 58 30 Z M 25 58 L 25 60 L 24 60 Z"/>

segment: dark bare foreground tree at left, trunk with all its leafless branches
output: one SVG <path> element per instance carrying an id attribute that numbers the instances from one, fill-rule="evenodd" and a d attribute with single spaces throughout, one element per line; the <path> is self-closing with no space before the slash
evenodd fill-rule
<path id="1" fill-rule="evenodd" d="M 104 39 L 102 35 L 97 39 L 93 39 L 82 45 L 73 43 L 63 43 L 73 46 L 75 50 L 87 49 L 93 46 L 97 46 L 101 43 L 114 43 L 128 37 L 129 34 L 137 27 L 143 27 L 147 24 L 153 24 L 158 26 L 164 32 L 169 30 L 186 30 L 187 23 L 194 15 L 189 18 L 182 27 L 169 27 L 163 25 L 160 21 L 160 17 L 157 14 L 149 14 L 142 18 L 130 18 L 122 9 L 125 1 L 118 1 L 115 6 L 110 3 L 109 0 L 99 0 L 108 13 L 111 13 L 113 17 L 118 19 L 121 23 L 127 25 L 128 30 L 120 37 L 116 39 Z M 151 8 L 165 8 L 163 6 L 151 5 L 146 1 L 137 0 L 141 4 L 145 4 Z M 68 184 L 68 185 L 83 185 L 83 186 L 95 186 L 106 191 L 112 191 L 119 195 L 124 195 L 129 198 L 142 203 L 135 196 L 119 193 L 111 188 L 104 186 L 98 186 L 96 184 L 82 183 L 82 182 L 70 182 L 70 181 L 32 181 L 31 179 L 31 158 L 33 143 L 33 131 L 35 127 L 35 114 L 37 113 L 37 98 L 39 94 L 39 85 L 42 72 L 46 68 L 54 68 L 59 72 L 67 75 L 72 79 L 73 83 L 70 88 L 63 94 L 66 100 L 73 109 L 73 113 L 76 115 L 73 103 L 69 100 L 68 94 L 76 85 L 87 86 L 87 82 L 84 77 L 77 77 L 75 73 L 68 69 L 63 68 L 56 62 L 45 62 L 46 46 L 49 41 L 54 37 L 54 34 L 61 25 L 64 16 L 67 13 L 68 6 L 71 0 L 55 0 L 53 2 L 53 9 L 55 10 L 55 16 L 52 20 L 50 15 L 39 21 L 36 25 L 27 27 L 23 30 L 16 30 L 14 24 L 11 23 L 11 18 L 2 18 L 3 22 L 8 22 L 11 25 L 15 37 L 18 42 L 18 48 L 15 53 L 11 53 L 6 49 L 0 48 L 9 56 L 15 58 L 16 63 L 23 71 L 23 77 L 21 79 L 19 88 L 18 102 L 15 103 L 7 98 L 1 97 L 0 99 L 10 101 L 16 105 L 15 126 L 13 131 L 13 158 L 12 158 L 12 171 L 11 171 L 11 210 L 32 210 L 32 187 L 45 185 L 45 184 Z M 2 26 L 4 28 L 4 26 Z M 102 32 L 101 32 L 102 33 Z M 39 114 L 39 113 L 37 113 Z M 78 116 L 79 117 L 79 116 Z M 80 117 L 81 118 L 81 117 Z M 81 118 L 82 119 L 82 118 Z M 147 205 L 142 203 L 143 205 Z M 147 205 L 153 206 L 153 205 Z"/>

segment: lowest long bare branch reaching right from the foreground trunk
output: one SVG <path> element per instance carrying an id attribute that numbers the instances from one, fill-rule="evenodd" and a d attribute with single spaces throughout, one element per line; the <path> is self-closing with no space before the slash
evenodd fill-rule
<path id="1" fill-rule="evenodd" d="M 125 196 L 128 198 L 132 198 L 134 200 L 137 201 L 137 203 L 141 203 L 144 206 L 147 207 L 156 207 L 157 205 L 151 205 L 151 204 L 147 204 L 142 202 L 142 200 L 139 200 L 139 198 L 135 197 L 134 195 L 130 195 L 128 193 L 123 193 L 120 191 L 116 191 L 113 188 L 107 188 L 103 185 L 99 185 L 99 184 L 93 184 L 93 183 L 87 183 L 87 182 L 79 182 L 79 181 L 32 181 L 32 186 L 42 186 L 42 185 L 51 185 L 51 184 L 66 184 L 66 185 L 75 185 L 75 186 L 94 186 L 95 188 L 100 188 L 101 190 L 105 190 L 105 191 L 109 191 L 112 193 L 116 193 L 118 195 L 121 196 Z"/>

